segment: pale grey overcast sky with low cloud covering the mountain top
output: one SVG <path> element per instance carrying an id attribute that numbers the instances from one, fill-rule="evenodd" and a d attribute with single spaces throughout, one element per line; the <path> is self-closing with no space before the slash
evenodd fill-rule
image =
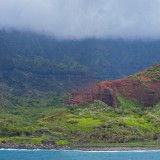
<path id="1" fill-rule="evenodd" d="M 62 39 L 155 39 L 160 0 L 0 0 L 0 28 Z"/>

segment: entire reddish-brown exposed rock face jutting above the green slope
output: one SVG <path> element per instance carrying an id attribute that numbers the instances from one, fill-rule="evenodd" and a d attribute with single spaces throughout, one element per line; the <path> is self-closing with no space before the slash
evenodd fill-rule
<path id="1" fill-rule="evenodd" d="M 118 95 L 134 99 L 144 106 L 153 106 L 160 101 L 160 82 L 143 82 L 134 78 L 103 81 L 73 92 L 69 103 L 84 105 L 87 102 L 101 100 L 112 107 L 117 107 Z"/>

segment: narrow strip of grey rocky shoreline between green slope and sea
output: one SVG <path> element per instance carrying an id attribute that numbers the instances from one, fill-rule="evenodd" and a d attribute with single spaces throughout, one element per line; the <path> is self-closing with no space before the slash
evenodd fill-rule
<path id="1" fill-rule="evenodd" d="M 145 150 L 159 150 L 160 146 L 137 146 L 137 147 L 116 147 L 116 146 L 55 146 L 55 145 L 13 145 L 0 144 L 0 149 L 42 149 L 42 150 L 79 150 L 79 151 L 145 151 Z"/>

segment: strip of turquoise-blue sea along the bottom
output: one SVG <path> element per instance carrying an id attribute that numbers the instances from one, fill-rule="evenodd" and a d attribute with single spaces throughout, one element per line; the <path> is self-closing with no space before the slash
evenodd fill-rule
<path id="1" fill-rule="evenodd" d="M 0 150 L 0 160 L 160 160 L 160 151 Z"/>

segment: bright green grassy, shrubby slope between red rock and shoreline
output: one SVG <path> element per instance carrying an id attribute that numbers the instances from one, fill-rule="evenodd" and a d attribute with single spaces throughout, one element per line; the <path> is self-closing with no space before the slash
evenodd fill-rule
<path id="1" fill-rule="evenodd" d="M 92 146 L 160 142 L 160 104 L 143 108 L 119 97 L 119 109 L 100 101 L 67 108 L 55 105 L 53 97 L 47 101 L 15 99 L 19 101 L 15 107 L 0 109 L 0 142 Z"/>

